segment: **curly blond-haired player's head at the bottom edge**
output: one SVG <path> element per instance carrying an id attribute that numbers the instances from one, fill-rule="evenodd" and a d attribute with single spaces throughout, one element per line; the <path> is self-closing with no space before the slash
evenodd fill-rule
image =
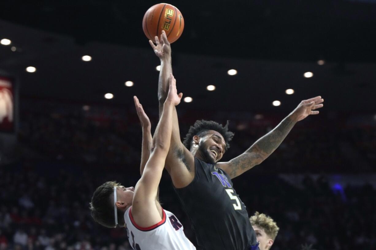
<path id="1" fill-rule="evenodd" d="M 260 250 L 269 250 L 279 231 L 277 223 L 270 216 L 259 212 L 255 212 L 249 220 L 255 230 Z"/>

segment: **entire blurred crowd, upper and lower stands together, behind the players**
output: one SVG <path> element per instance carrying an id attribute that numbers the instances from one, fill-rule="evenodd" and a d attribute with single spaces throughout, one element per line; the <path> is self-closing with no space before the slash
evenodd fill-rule
<path id="1" fill-rule="evenodd" d="M 134 186 L 139 178 L 141 128 L 133 106 L 78 111 L 30 106 L 33 110 L 21 109 L 19 160 L 0 167 L 0 250 L 130 250 L 126 231 L 96 224 L 88 207 L 103 182 Z M 146 112 L 155 126 L 157 110 Z M 204 117 L 183 110 L 179 118 L 183 137 L 196 118 Z M 235 137 L 223 158 L 229 160 L 283 116 L 217 113 L 205 118 L 230 120 Z M 270 158 L 233 183 L 249 215 L 263 212 L 280 227 L 272 250 L 300 250 L 302 244 L 315 250 L 374 250 L 376 190 L 367 184 L 332 187 L 325 173 L 375 173 L 375 148 L 375 126 L 326 114 L 298 123 Z M 279 173 L 305 174 L 303 188 Z M 166 173 L 160 198 L 195 243 Z"/>

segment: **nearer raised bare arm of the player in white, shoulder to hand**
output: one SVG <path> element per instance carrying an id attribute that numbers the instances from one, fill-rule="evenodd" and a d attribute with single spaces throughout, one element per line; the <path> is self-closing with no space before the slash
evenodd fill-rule
<path id="1" fill-rule="evenodd" d="M 142 216 L 142 219 L 139 218 L 141 224 L 158 223 L 161 220 L 155 199 L 165 159 L 170 148 L 173 108 L 180 103 L 181 98 L 182 94 L 177 95 L 176 81 L 171 75 L 170 90 L 154 134 L 151 154 L 141 179 L 136 184 L 133 196 L 132 214 L 134 217 Z M 145 214 L 148 214 L 147 218 L 145 218 Z"/>

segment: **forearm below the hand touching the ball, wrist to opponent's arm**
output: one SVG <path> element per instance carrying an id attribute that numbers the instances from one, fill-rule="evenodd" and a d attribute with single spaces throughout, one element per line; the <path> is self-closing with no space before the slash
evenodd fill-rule
<path id="1" fill-rule="evenodd" d="M 161 59 L 161 71 L 159 71 L 158 81 L 158 101 L 159 101 L 159 117 L 161 117 L 163 105 L 168 93 L 168 78 L 172 74 L 171 57 L 166 56 Z"/>

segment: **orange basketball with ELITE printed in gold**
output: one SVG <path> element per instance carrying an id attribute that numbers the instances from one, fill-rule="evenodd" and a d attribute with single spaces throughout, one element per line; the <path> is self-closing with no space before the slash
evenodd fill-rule
<path id="1" fill-rule="evenodd" d="M 175 6 L 158 3 L 146 11 L 142 27 L 147 38 L 153 42 L 155 42 L 155 36 L 160 37 L 164 30 L 167 40 L 173 43 L 182 35 L 184 19 Z"/>

